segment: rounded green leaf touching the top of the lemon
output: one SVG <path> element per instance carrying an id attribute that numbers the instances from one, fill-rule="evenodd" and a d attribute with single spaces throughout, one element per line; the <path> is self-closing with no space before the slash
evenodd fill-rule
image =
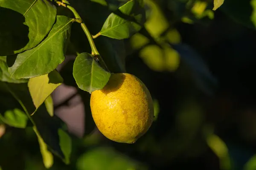
<path id="1" fill-rule="evenodd" d="M 82 90 L 91 93 L 104 88 L 110 75 L 108 71 L 99 66 L 91 54 L 81 53 L 76 57 L 73 76 Z"/>

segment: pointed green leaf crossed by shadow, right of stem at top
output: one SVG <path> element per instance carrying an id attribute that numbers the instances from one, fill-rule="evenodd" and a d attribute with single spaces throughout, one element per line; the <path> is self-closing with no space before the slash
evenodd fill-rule
<path id="1" fill-rule="evenodd" d="M 119 11 L 125 15 L 134 16 L 137 22 L 141 24 L 144 21 L 145 11 L 135 10 L 134 8 L 137 6 L 138 3 L 136 0 L 130 0 L 125 5 L 119 7 Z M 137 13 L 134 13 L 135 11 Z M 138 23 L 111 13 L 98 34 L 118 40 L 129 38 L 140 31 L 141 26 Z"/>

